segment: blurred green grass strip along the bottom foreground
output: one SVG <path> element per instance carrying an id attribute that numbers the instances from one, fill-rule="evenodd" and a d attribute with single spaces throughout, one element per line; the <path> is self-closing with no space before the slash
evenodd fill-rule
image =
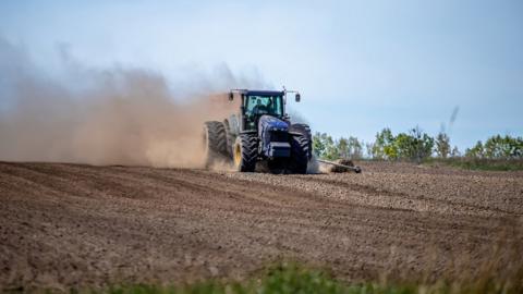
<path id="1" fill-rule="evenodd" d="M 486 274 L 475 280 L 435 282 L 343 282 L 332 278 L 325 270 L 279 264 L 264 270 L 258 278 L 245 281 L 204 280 L 187 284 L 132 284 L 112 285 L 106 290 L 89 290 L 86 293 L 111 294 L 475 294 L 475 293 L 521 293 L 521 266 L 509 278 L 498 277 L 497 271 L 488 269 Z M 71 293 L 83 293 L 72 290 Z"/>

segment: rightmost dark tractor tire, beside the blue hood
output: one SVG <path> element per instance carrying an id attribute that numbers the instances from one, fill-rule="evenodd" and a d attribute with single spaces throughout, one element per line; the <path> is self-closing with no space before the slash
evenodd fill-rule
<path id="1" fill-rule="evenodd" d="M 293 124 L 289 128 L 289 132 L 292 133 L 289 171 L 305 174 L 307 173 L 308 160 L 313 152 L 311 128 L 306 124 Z"/>

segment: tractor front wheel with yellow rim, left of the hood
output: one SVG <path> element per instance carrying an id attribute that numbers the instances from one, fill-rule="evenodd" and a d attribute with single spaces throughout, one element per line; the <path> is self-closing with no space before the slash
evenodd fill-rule
<path id="1" fill-rule="evenodd" d="M 258 139 L 254 135 L 241 134 L 233 148 L 234 167 L 240 172 L 254 172 L 258 159 Z"/>

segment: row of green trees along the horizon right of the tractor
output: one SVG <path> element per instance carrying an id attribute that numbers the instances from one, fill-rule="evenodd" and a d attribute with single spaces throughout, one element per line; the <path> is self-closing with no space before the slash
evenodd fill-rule
<path id="1" fill-rule="evenodd" d="M 451 147 L 450 137 L 445 132 L 433 137 L 416 126 L 409 132 L 394 135 L 386 127 L 378 132 L 375 140 L 370 143 L 364 143 L 353 136 L 335 139 L 326 133 L 315 133 L 313 149 L 316 156 L 328 160 L 367 158 L 410 160 L 418 163 L 428 158 L 512 160 L 523 159 L 523 137 L 494 135 L 485 143 L 478 140 L 462 154 L 457 146 Z"/>

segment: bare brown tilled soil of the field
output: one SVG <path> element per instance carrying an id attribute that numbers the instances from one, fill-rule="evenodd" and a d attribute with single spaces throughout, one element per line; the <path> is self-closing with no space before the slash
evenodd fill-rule
<path id="1" fill-rule="evenodd" d="M 272 175 L 0 162 L 0 290 L 242 279 L 281 259 L 345 280 L 438 275 L 521 238 L 522 172 L 356 164 Z"/>

